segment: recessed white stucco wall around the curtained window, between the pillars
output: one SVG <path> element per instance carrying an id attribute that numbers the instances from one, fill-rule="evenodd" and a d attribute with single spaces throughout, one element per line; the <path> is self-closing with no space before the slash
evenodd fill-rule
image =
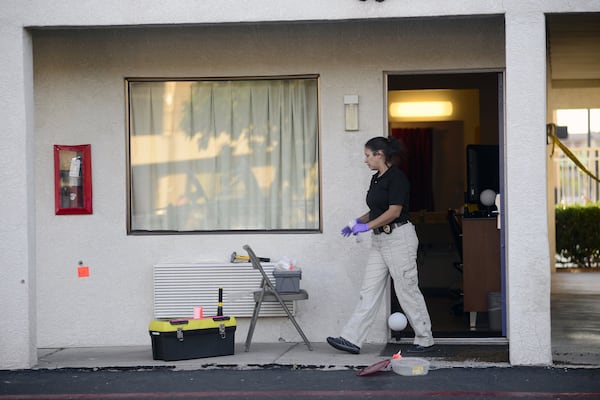
<path id="1" fill-rule="evenodd" d="M 148 344 L 152 265 L 226 261 L 245 243 L 260 255 L 297 258 L 311 293 L 299 307 L 301 325 L 315 341 L 337 334 L 356 302 L 368 246 L 339 230 L 366 210 L 362 152 L 384 133 L 383 71 L 504 66 L 500 17 L 40 30 L 33 45 L 39 347 Z M 322 234 L 126 235 L 125 77 L 302 73 L 321 76 Z M 346 94 L 360 97 L 359 132 L 343 129 Z M 94 214 L 56 216 L 52 145 L 83 143 L 92 145 Z M 77 278 L 79 260 L 89 278 Z M 369 340 L 383 342 L 385 318 L 378 321 Z M 238 341 L 246 327 L 241 319 Z M 296 335 L 285 319 L 265 319 L 255 341 Z"/>

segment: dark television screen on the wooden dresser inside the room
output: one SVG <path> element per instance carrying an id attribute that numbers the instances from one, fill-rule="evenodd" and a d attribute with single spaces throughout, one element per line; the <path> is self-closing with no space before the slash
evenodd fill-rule
<path id="1" fill-rule="evenodd" d="M 498 145 L 467 145 L 467 202 L 479 203 L 485 189 L 500 192 Z"/>

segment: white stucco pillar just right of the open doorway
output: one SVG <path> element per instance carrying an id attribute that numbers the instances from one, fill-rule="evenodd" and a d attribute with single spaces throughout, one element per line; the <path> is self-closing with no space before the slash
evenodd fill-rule
<path id="1" fill-rule="evenodd" d="M 552 359 L 551 335 L 543 333 L 551 331 L 546 191 L 542 185 L 535 189 L 531 185 L 531 182 L 546 182 L 544 16 L 507 19 L 506 38 L 514 45 L 506 53 L 505 201 L 516 202 L 506 208 L 505 215 L 506 265 L 510 265 L 506 274 L 509 351 L 511 362 L 536 364 L 542 359 Z M 532 76 L 541 79 L 526 83 Z M 519 117 L 523 110 L 527 110 L 529 118 Z M 530 151 L 534 148 L 544 151 Z M 524 218 L 520 211 L 526 213 L 530 204 L 540 204 L 544 212 Z M 510 232 L 525 232 L 528 227 L 530 234 L 520 240 L 510 236 Z M 530 248 L 539 252 L 523 258 Z M 536 282 L 533 287 L 532 282 Z M 533 337 L 538 339 L 527 339 Z"/>

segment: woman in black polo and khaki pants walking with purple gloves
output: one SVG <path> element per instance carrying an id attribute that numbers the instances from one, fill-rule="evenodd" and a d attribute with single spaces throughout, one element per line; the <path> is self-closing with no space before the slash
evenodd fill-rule
<path id="1" fill-rule="evenodd" d="M 429 313 L 419 290 L 419 240 L 408 219 L 410 183 L 392 163 L 400 149 L 395 138 L 374 137 L 365 144 L 365 163 L 376 171 L 367 192 L 369 211 L 345 226 L 342 235 L 348 237 L 373 231 L 373 237 L 354 313 L 339 337 L 327 338 L 327 343 L 338 350 L 360 353 L 389 276 L 394 280 L 400 306 L 415 332 L 413 346 L 406 352 L 426 352 L 434 345 Z"/>

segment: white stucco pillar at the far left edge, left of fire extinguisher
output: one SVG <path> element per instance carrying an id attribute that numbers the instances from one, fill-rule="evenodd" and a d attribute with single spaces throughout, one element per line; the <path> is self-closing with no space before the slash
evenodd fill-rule
<path id="1" fill-rule="evenodd" d="M 1 16 L 0 367 L 14 367 L 37 360 L 33 64 L 29 36 Z"/>

